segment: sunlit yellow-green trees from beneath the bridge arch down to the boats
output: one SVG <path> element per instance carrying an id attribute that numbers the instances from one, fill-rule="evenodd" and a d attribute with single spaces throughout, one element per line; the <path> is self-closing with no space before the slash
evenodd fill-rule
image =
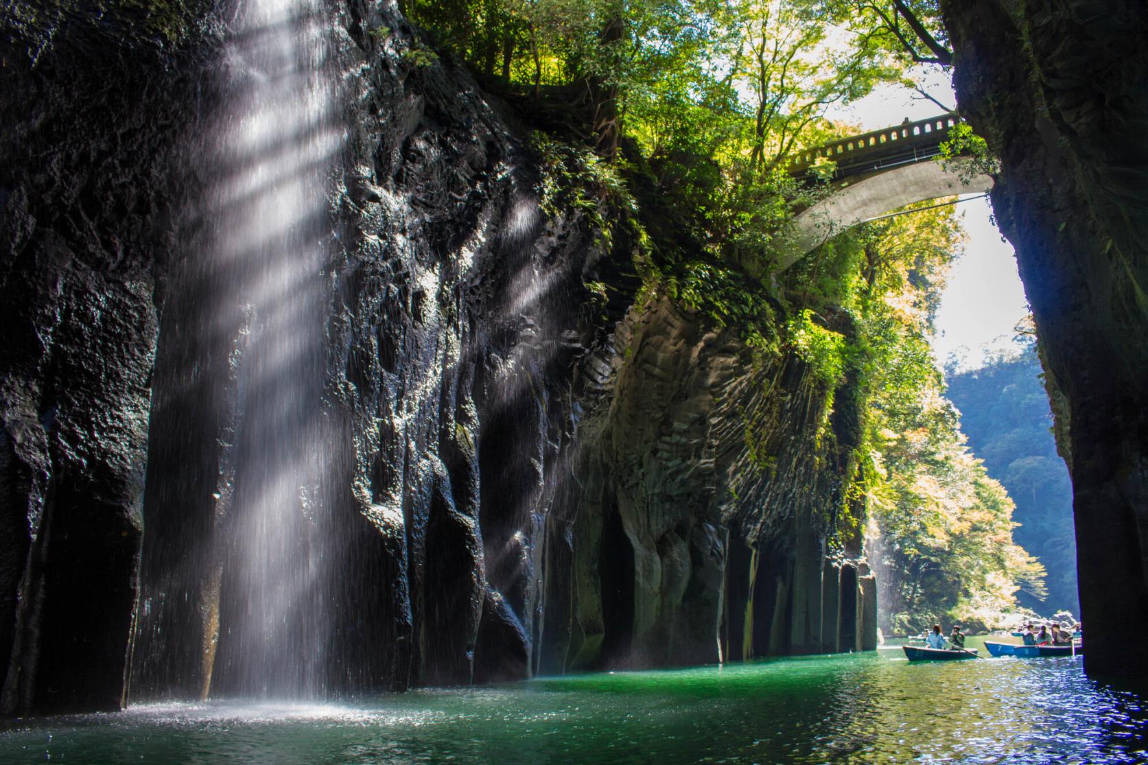
<path id="1" fill-rule="evenodd" d="M 962 244 L 952 208 L 887 218 L 837 244 L 854 253 L 852 295 L 830 299 L 860 317 L 870 555 L 882 623 L 894 632 L 939 620 L 990 626 L 1015 608 L 1018 590 L 1045 592 L 1042 567 L 1013 539 L 1013 501 L 965 446 L 930 350 Z M 822 289 L 846 284 L 839 263 L 823 279 Z"/>

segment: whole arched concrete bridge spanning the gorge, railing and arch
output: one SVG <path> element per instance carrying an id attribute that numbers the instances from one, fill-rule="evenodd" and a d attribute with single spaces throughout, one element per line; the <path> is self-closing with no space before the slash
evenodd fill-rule
<path id="1" fill-rule="evenodd" d="M 831 159 L 837 164 L 831 176 L 837 191 L 797 216 L 796 242 L 779 270 L 841 231 L 899 207 L 992 188 L 987 175 L 959 173 L 933 161 L 957 121 L 955 114 L 945 114 L 801 152 L 790 164 L 790 175 L 810 176 L 819 157 Z"/>

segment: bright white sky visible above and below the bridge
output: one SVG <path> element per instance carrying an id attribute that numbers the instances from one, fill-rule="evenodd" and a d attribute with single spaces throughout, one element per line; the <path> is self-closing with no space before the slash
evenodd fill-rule
<path id="1" fill-rule="evenodd" d="M 933 67 L 923 75 L 930 95 L 947 106 L 956 102 L 943 70 Z M 827 117 L 868 131 L 895 125 L 906 117 L 923 119 L 940 111 L 940 107 L 913 91 L 885 86 Z M 939 362 L 944 364 L 955 354 L 964 369 L 980 366 L 987 353 L 1009 346 L 1013 327 L 1029 314 L 1013 246 L 1002 240 L 992 223 L 988 200 L 970 196 L 974 195 L 967 195 L 957 204 L 969 241 L 949 271 L 933 340 Z"/>

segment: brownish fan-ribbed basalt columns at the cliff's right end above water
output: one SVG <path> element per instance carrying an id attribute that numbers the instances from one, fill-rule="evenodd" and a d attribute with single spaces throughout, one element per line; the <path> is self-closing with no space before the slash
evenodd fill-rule
<path id="1" fill-rule="evenodd" d="M 580 433 L 602 446 L 575 469 L 583 499 L 567 664 L 817 652 L 827 608 L 827 650 L 853 650 L 859 585 L 827 589 L 822 577 L 830 510 L 860 436 L 848 405 L 831 411 L 798 358 L 755 353 L 668 301 L 633 311 L 615 343 L 612 396 Z M 817 436 L 825 430 L 832 447 Z M 840 619 L 838 598 L 850 600 Z M 565 618 L 551 609 L 546 623 Z M 850 625 L 845 643 L 839 623 Z"/>

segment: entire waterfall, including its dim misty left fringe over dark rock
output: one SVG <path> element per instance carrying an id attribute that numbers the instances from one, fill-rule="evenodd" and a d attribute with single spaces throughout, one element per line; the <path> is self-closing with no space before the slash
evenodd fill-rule
<path id="1" fill-rule="evenodd" d="M 133 658 L 142 697 L 328 691 L 338 543 L 323 403 L 325 237 L 343 141 L 331 46 L 320 0 L 242 2 L 217 115 L 192 160 L 210 180 L 187 255 L 193 276 L 163 331 L 172 347 L 204 350 L 166 387 L 180 392 L 169 394 L 173 409 L 210 423 L 186 423 L 187 443 L 149 464 Z M 199 442 L 196 428 L 207 433 Z M 178 438 L 168 430 L 161 441 Z M 180 464 L 202 462 L 204 445 L 218 464 L 210 489 Z M 209 493 L 208 507 L 188 493 Z M 183 512 L 174 505 L 209 516 L 210 531 L 171 530 L 191 523 L 170 519 Z"/>

